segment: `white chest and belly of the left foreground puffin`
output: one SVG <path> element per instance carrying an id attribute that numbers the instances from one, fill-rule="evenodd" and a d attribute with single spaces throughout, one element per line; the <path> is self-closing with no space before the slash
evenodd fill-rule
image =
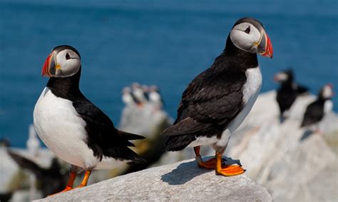
<path id="1" fill-rule="evenodd" d="M 34 126 L 43 143 L 68 163 L 84 166 L 85 156 L 93 156 L 86 145 L 86 122 L 71 101 L 52 94 L 46 87 L 34 108 Z"/>

